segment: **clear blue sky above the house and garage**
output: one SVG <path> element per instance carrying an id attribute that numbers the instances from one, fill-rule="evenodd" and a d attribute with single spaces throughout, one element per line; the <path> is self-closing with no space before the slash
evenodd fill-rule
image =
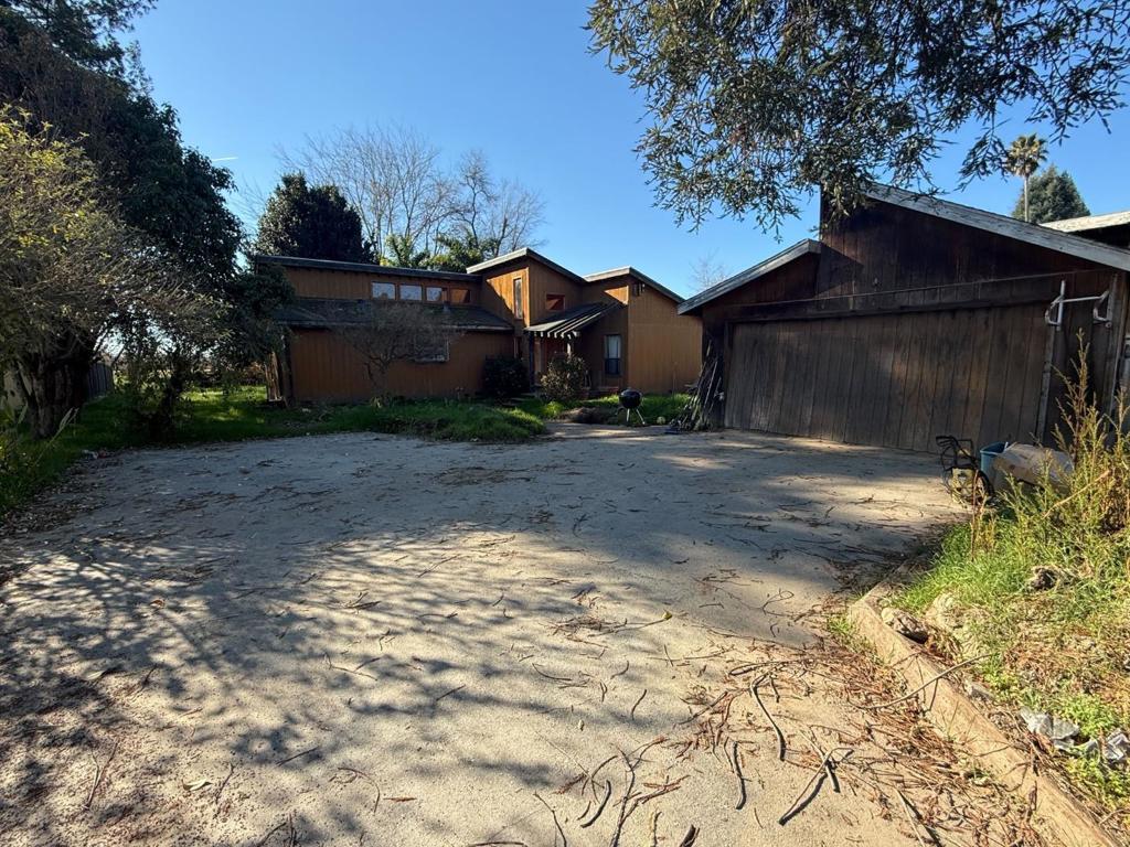
<path id="1" fill-rule="evenodd" d="M 692 233 L 654 208 L 633 152 L 640 98 L 586 52 L 585 8 L 583 0 L 158 0 L 128 37 L 141 45 L 156 97 L 179 112 L 185 141 L 264 193 L 277 181 L 280 147 L 386 122 L 418 129 L 452 160 L 483 149 L 501 175 L 540 191 L 541 250 L 580 273 L 633 264 L 688 292 L 702 256 L 736 272 L 777 252 L 782 245 L 751 222 L 714 220 Z M 1089 125 L 1051 150 L 1095 213 L 1130 208 L 1130 112 L 1111 130 Z M 937 163 L 941 187 L 956 187 L 962 152 Z M 1017 192 L 1016 180 L 1001 177 L 951 197 L 1008 212 Z M 792 243 L 815 225 L 814 204 L 781 238 Z"/>

